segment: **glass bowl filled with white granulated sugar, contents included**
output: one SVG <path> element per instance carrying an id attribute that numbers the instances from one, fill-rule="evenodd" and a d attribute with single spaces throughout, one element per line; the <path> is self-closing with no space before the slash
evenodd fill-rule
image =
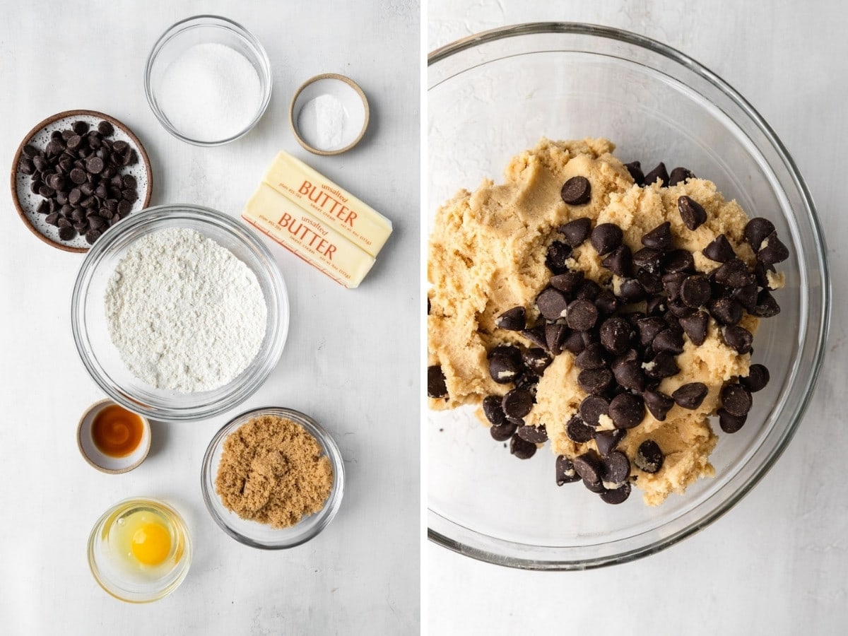
<path id="1" fill-rule="evenodd" d="M 171 135 L 220 146 L 250 131 L 271 101 L 271 63 L 242 25 L 216 15 L 177 22 L 148 56 L 144 92 Z"/>

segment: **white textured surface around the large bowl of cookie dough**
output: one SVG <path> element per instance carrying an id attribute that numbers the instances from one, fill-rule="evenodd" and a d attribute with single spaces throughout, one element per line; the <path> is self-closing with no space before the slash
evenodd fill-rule
<path id="1" fill-rule="evenodd" d="M 658 555 L 591 572 L 522 572 L 429 544 L 432 634 L 838 634 L 848 624 L 843 451 L 844 276 L 848 233 L 837 191 L 845 138 L 845 7 L 806 3 L 430 0 L 430 50 L 501 25 L 572 20 L 616 26 L 688 53 L 766 118 L 800 166 L 828 237 L 833 323 L 812 404 L 777 465 L 734 510 Z M 834 249 L 836 248 L 836 249 Z M 509 510 L 504 511 L 509 514 Z"/>

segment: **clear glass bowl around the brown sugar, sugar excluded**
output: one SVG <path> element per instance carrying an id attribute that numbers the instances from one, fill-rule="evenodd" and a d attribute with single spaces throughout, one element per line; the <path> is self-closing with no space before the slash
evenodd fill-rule
<path id="1" fill-rule="evenodd" d="M 330 458 L 332 464 L 332 489 L 327 497 L 324 507 L 314 515 L 306 516 L 292 527 L 276 528 L 265 523 L 248 521 L 242 519 L 232 510 L 228 510 L 215 492 L 215 477 L 218 475 L 220 455 L 224 449 L 224 441 L 238 427 L 245 422 L 261 416 L 285 417 L 297 422 L 310 433 L 324 454 Z M 285 550 L 296 545 L 304 544 L 329 525 L 332 518 L 336 516 L 338 508 L 342 505 L 344 493 L 344 464 L 342 454 L 333 438 L 324 428 L 310 416 L 306 416 L 297 410 L 282 407 L 268 406 L 261 409 L 248 410 L 240 416 L 233 418 L 220 429 L 209 442 L 209 447 L 204 455 L 204 464 L 200 474 L 200 485 L 204 493 L 204 501 L 209 514 L 215 519 L 221 529 L 237 541 L 249 545 L 252 548 L 262 550 Z"/>

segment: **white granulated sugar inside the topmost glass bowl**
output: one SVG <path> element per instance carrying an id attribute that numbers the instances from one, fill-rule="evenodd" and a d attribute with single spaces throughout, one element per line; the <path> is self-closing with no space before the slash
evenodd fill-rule
<path id="1" fill-rule="evenodd" d="M 254 119 L 259 75 L 236 49 L 195 44 L 170 63 L 157 91 L 159 108 L 182 135 L 201 142 L 233 137 Z"/>

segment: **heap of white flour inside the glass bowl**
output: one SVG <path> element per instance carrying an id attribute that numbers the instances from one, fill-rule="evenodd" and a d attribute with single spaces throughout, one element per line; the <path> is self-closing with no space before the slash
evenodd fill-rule
<path id="1" fill-rule="evenodd" d="M 149 385 L 180 393 L 219 388 L 254 360 L 267 307 L 256 275 L 193 230 L 138 239 L 106 290 L 109 335 Z"/>

